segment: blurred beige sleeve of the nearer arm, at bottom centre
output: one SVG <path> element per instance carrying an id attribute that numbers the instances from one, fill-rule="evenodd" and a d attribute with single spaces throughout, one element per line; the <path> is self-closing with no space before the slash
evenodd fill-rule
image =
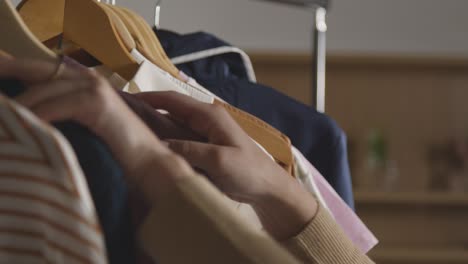
<path id="1" fill-rule="evenodd" d="M 203 177 L 192 177 L 155 203 L 140 229 L 148 255 L 163 264 L 299 263 L 253 229 Z"/>

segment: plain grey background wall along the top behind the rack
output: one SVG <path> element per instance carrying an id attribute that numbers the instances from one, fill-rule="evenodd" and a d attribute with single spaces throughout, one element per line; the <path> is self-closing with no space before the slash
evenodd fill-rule
<path id="1" fill-rule="evenodd" d="M 155 1 L 117 3 L 152 19 Z M 332 53 L 468 55 L 466 10 L 465 0 L 334 0 L 328 48 Z M 307 52 L 311 19 L 307 11 L 261 1 L 163 0 L 161 25 L 182 33 L 211 32 L 247 50 Z"/>

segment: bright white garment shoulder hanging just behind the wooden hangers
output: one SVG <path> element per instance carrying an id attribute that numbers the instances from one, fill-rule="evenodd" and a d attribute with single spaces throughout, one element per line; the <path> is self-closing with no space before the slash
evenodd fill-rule
<path id="1" fill-rule="evenodd" d="M 141 63 L 138 72 L 130 83 L 133 82 L 138 86 L 141 92 L 175 91 L 204 103 L 212 104 L 214 102 L 213 96 L 173 77 L 168 72 L 147 60 L 137 50 L 132 50 L 131 54 L 138 62 L 141 61 Z M 126 85 L 124 91 L 130 90 L 130 83 Z"/>

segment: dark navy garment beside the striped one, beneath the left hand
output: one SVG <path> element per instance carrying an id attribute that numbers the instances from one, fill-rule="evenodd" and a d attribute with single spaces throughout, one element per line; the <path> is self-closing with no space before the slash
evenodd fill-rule
<path id="1" fill-rule="evenodd" d="M 16 81 L 0 80 L 0 91 L 14 97 L 24 91 Z M 120 164 L 101 139 L 75 122 L 53 124 L 73 147 L 96 207 L 109 263 L 135 263 L 134 230 L 128 189 Z"/>

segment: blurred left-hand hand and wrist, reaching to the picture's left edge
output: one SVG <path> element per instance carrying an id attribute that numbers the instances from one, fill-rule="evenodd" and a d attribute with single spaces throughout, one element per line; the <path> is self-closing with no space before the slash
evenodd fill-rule
<path id="1" fill-rule="evenodd" d="M 86 68 L 42 61 L 0 59 L 0 78 L 21 81 L 27 90 L 17 98 L 45 121 L 74 120 L 88 127 L 111 148 L 128 182 L 146 200 L 170 190 L 174 180 L 195 175 L 127 107 L 109 83 Z M 151 173 L 158 172 L 158 173 Z M 157 177 L 156 177 L 157 176 Z"/>

